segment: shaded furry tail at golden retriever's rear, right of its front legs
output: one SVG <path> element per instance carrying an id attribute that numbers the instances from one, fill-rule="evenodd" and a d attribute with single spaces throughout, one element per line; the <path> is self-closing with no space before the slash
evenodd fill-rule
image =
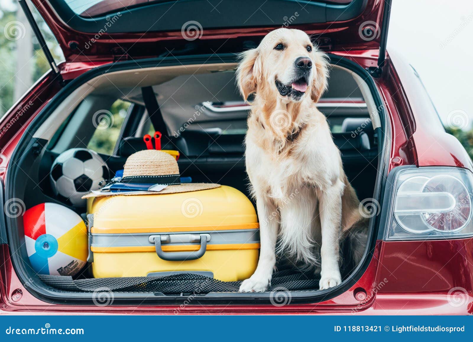
<path id="1" fill-rule="evenodd" d="M 345 269 L 352 270 L 361 262 L 368 243 L 368 224 L 369 219 L 361 218 L 343 233 L 341 250 L 345 256 Z"/>

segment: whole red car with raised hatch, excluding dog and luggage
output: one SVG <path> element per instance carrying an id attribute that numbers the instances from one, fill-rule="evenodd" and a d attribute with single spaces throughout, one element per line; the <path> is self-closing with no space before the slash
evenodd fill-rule
<path id="1" fill-rule="evenodd" d="M 0 121 L 1 314 L 473 314 L 472 161 L 446 133 L 416 70 L 386 51 L 391 1 L 32 2 L 65 61 L 56 66 L 20 0 L 52 68 Z M 363 260 L 344 271 L 342 284 L 276 293 L 123 291 L 103 306 L 96 293 L 40 279 L 26 254 L 22 213 L 55 202 L 84 214 L 54 197 L 51 165 L 68 148 L 88 147 L 120 170 L 127 146 L 156 125 L 140 88 L 153 87 L 168 132 L 185 142 L 184 176 L 247 193 L 248 107 L 236 91 L 235 53 L 281 26 L 306 31 L 329 54 L 329 90 L 318 106 L 360 209 L 369 209 Z M 127 108 L 123 122 L 103 130 L 114 145 L 97 147 L 94 113 L 116 101 Z"/>

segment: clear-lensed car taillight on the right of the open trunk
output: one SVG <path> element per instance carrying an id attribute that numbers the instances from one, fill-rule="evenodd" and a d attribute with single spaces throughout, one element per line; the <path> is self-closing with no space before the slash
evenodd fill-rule
<path id="1" fill-rule="evenodd" d="M 455 167 L 404 168 L 390 179 L 393 197 L 385 239 L 473 236 L 471 171 Z"/>

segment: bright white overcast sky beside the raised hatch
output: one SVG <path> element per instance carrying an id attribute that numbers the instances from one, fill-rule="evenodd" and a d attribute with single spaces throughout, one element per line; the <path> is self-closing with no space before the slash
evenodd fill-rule
<path id="1" fill-rule="evenodd" d="M 473 123 L 473 1 L 392 2 L 388 52 L 403 55 L 419 72 L 444 122 L 461 110 Z M 11 6 L 12 0 L 0 0 L 1 8 Z"/>

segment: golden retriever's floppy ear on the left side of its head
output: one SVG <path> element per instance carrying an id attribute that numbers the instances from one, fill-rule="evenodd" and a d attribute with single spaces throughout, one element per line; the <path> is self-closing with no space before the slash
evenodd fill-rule
<path id="1" fill-rule="evenodd" d="M 236 82 L 243 98 L 256 91 L 256 86 L 261 82 L 261 57 L 259 49 L 251 49 L 239 54 L 240 63 L 236 68 Z"/>

